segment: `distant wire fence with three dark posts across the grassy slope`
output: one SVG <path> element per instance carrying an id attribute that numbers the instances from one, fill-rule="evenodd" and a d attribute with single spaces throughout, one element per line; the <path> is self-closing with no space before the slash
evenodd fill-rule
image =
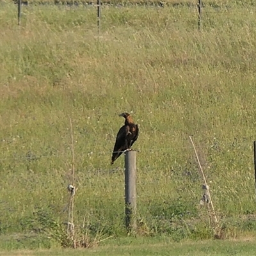
<path id="1" fill-rule="evenodd" d="M 0 3 L 6 3 L 6 1 L 1 1 Z M 243 12 L 244 15 L 245 13 L 253 13 L 252 7 L 256 6 L 256 4 L 252 4 L 250 1 L 237 1 L 237 0 L 191 0 L 191 1 L 178 1 L 178 0 L 173 0 L 173 1 L 136 1 L 136 0 L 129 0 L 129 1 L 109 1 L 109 0 L 93 0 L 93 1 L 63 1 L 63 0 L 35 0 L 35 1 L 29 1 L 29 0 L 16 0 L 13 1 L 13 3 L 18 3 L 18 24 L 21 24 L 22 20 L 22 11 L 21 11 L 21 5 L 22 6 L 33 6 L 33 5 L 58 5 L 58 6 L 68 6 L 68 7 L 78 7 L 78 6 L 93 6 L 97 8 L 97 28 L 98 28 L 98 33 L 100 32 L 100 25 L 101 25 L 101 20 L 102 20 L 102 15 L 101 13 L 104 13 L 104 6 L 114 6 L 118 8 L 122 8 L 125 6 L 156 6 L 156 7 L 161 7 L 161 8 L 168 8 L 168 7 L 173 7 L 173 8 L 184 8 L 184 6 L 194 9 L 195 10 L 195 22 L 197 20 L 198 22 L 198 29 L 202 29 L 204 24 L 204 19 L 207 20 L 209 15 L 214 14 L 214 13 L 220 13 L 223 15 L 223 13 L 232 13 L 232 14 L 238 14 Z M 241 7 L 240 10 L 234 9 L 234 6 Z M 244 6 L 248 6 L 248 9 L 244 8 Z M 67 9 L 68 10 L 68 9 Z M 106 24 L 105 24 L 106 25 Z"/>

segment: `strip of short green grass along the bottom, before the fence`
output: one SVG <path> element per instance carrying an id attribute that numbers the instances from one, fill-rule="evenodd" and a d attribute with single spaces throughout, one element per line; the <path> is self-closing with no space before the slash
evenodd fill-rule
<path id="1" fill-rule="evenodd" d="M 225 240 L 225 241 L 182 241 L 175 243 L 167 237 L 131 239 L 113 239 L 107 244 L 102 244 L 89 250 L 63 250 L 60 248 L 51 248 L 50 250 L 12 250 L 2 251 L 0 255 L 15 256 L 74 256 L 80 255 L 255 255 L 255 239 L 248 237 L 243 241 Z"/>

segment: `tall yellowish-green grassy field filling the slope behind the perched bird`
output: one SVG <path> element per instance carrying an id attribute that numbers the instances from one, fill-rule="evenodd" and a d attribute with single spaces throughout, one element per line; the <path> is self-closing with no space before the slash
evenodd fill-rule
<path id="1" fill-rule="evenodd" d="M 256 231 L 255 6 L 0 8 L 0 234 L 8 248 L 65 240 L 72 182 L 79 234 L 125 236 L 124 159 L 116 132 L 140 125 L 138 234 L 209 239 L 199 152 L 221 237 Z M 98 234 L 98 235 L 97 235 Z M 1 246 L 1 247 L 4 247 Z"/>

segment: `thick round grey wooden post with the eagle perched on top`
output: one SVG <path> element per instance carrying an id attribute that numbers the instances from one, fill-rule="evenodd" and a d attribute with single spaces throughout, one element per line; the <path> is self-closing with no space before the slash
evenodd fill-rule
<path id="1" fill-rule="evenodd" d="M 125 226 L 136 233 L 136 151 L 125 152 Z"/>

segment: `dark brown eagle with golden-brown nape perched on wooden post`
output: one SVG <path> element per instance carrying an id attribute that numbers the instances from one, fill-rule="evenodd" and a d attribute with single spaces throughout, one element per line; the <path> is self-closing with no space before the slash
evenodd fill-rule
<path id="1" fill-rule="evenodd" d="M 138 139 L 139 136 L 138 124 L 134 124 L 132 116 L 126 112 L 120 114 L 119 116 L 123 116 L 125 118 L 125 122 L 116 135 L 116 142 L 112 153 L 111 164 L 113 164 L 125 150 L 131 150 L 133 143 Z"/>

